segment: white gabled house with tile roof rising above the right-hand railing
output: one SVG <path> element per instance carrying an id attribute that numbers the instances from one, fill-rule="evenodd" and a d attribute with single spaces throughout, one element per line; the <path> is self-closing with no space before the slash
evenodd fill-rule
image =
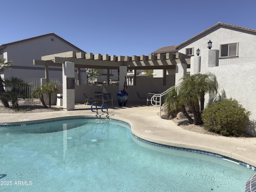
<path id="1" fill-rule="evenodd" d="M 256 30 L 222 22 L 179 44 L 176 49 L 194 56 L 197 49 L 208 49 L 209 41 L 212 42 L 211 49 L 220 50 L 219 58 L 256 56 Z"/>

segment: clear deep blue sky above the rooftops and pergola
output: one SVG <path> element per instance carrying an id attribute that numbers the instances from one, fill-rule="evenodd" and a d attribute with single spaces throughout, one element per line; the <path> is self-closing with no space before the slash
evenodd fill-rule
<path id="1" fill-rule="evenodd" d="M 54 32 L 85 52 L 148 55 L 219 21 L 256 29 L 255 0 L 0 0 L 0 45 Z"/>

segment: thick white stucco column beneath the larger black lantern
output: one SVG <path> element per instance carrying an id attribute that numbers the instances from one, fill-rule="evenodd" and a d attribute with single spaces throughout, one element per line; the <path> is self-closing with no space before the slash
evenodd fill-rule
<path id="1" fill-rule="evenodd" d="M 201 73 L 208 72 L 209 67 L 216 67 L 219 64 L 219 50 L 202 50 L 201 54 Z"/>

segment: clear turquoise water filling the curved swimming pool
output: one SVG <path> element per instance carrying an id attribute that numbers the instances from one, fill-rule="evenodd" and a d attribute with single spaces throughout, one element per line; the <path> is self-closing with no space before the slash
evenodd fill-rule
<path id="1" fill-rule="evenodd" d="M 152 146 L 116 120 L 0 127 L 0 191 L 243 192 L 255 172 Z"/>

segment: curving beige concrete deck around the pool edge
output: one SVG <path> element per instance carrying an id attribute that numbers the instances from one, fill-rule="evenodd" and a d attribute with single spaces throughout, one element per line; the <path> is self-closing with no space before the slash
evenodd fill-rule
<path id="1" fill-rule="evenodd" d="M 100 108 L 100 106 L 98 106 Z M 94 106 L 95 108 L 95 106 Z M 104 111 L 106 111 L 104 109 Z M 44 113 L 0 114 L 0 124 L 21 124 L 51 118 L 72 116 L 104 117 L 106 113 L 90 110 L 90 105 L 76 104 L 72 111 Z M 177 126 L 171 120 L 158 116 L 159 106 L 144 106 L 130 103 L 126 107 L 108 106 L 109 118 L 122 120 L 131 125 L 132 133 L 144 140 L 170 146 L 191 148 L 216 153 L 256 167 L 256 138 L 230 138 L 199 134 Z M 16 123 L 17 124 L 17 123 Z"/>

